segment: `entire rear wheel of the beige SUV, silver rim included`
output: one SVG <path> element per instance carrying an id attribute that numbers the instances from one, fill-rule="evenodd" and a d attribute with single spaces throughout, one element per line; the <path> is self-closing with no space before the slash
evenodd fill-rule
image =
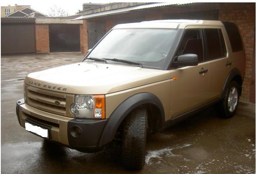
<path id="1" fill-rule="evenodd" d="M 223 118 L 230 118 L 236 113 L 239 103 L 239 86 L 232 81 L 224 93 L 224 99 L 220 102 L 220 114 Z"/>

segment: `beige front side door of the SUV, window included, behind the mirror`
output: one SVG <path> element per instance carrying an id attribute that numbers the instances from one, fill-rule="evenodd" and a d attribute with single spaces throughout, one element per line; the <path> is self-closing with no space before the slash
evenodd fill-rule
<path id="1" fill-rule="evenodd" d="M 175 56 L 181 54 L 197 54 L 199 64 L 197 66 L 180 67 L 171 71 L 171 102 L 170 118 L 183 114 L 201 106 L 209 96 L 209 63 L 203 62 L 202 32 L 199 28 L 186 27 L 183 39 Z M 189 40 L 198 40 L 200 45 L 191 45 Z M 177 79 L 174 80 L 176 77 Z"/>

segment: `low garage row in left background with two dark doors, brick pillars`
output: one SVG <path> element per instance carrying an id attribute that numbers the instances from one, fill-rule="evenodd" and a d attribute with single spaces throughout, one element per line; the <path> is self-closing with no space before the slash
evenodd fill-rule
<path id="1" fill-rule="evenodd" d="M 83 21 L 74 17 L 1 18 L 1 54 L 83 51 Z"/>

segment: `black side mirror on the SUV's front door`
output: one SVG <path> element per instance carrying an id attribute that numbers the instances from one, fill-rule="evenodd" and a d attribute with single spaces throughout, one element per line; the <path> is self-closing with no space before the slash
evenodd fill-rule
<path id="1" fill-rule="evenodd" d="M 182 54 L 175 58 L 173 62 L 176 66 L 197 66 L 197 54 Z"/>

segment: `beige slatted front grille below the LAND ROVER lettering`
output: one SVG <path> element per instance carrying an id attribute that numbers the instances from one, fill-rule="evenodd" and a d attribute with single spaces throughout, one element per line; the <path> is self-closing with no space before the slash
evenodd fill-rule
<path id="1" fill-rule="evenodd" d="M 25 85 L 25 92 L 26 103 L 30 106 L 53 114 L 74 117 L 69 111 L 74 95 L 40 89 L 30 85 Z M 57 105 L 56 101 L 60 104 Z"/>

